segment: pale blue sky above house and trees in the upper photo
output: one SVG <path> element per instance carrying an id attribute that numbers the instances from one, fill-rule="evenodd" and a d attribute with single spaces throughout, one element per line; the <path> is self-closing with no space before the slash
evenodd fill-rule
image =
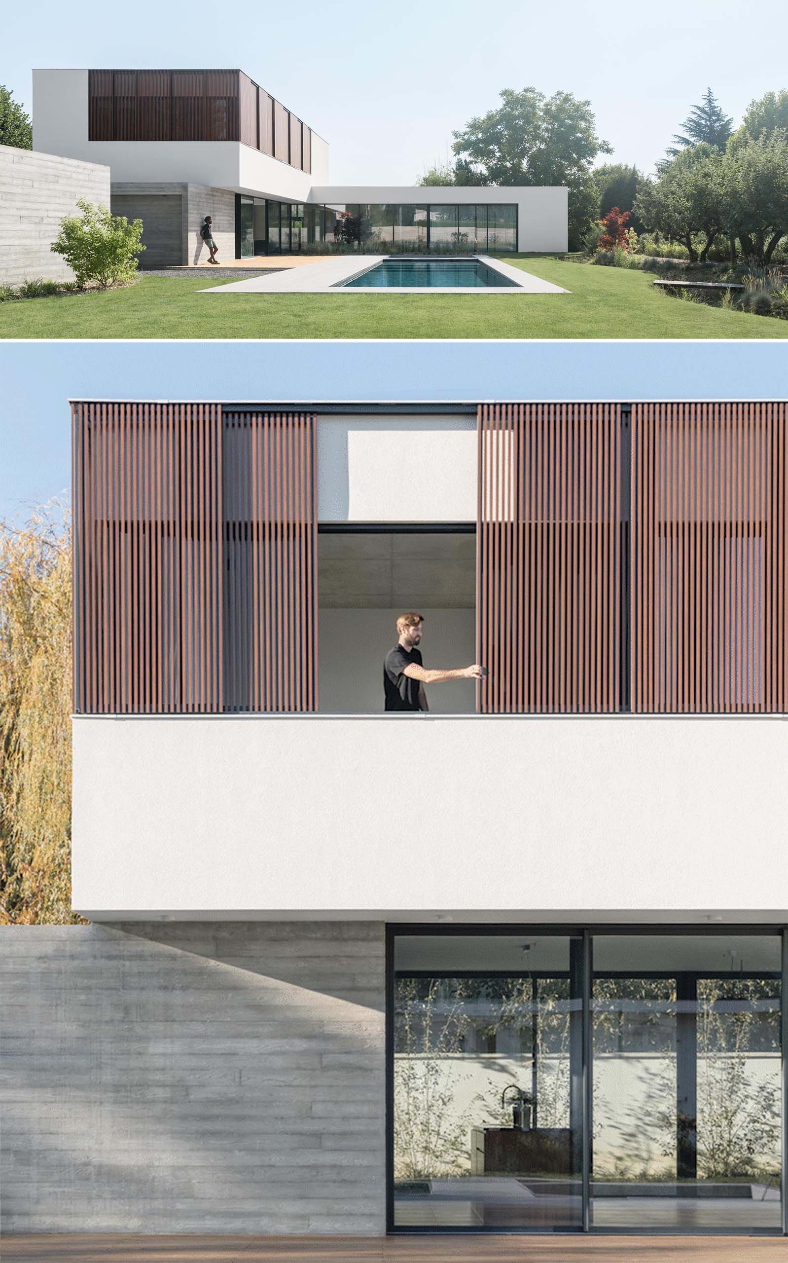
<path id="1" fill-rule="evenodd" d="M 412 183 L 504 87 L 588 99 L 615 159 L 650 171 L 707 86 L 740 121 L 788 87 L 784 0 L 5 5 L 0 83 L 32 67 L 240 67 L 332 147 L 335 183 Z"/>

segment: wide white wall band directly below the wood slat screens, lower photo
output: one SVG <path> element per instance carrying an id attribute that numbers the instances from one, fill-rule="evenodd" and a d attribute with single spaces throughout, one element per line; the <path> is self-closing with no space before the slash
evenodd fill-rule
<path id="1" fill-rule="evenodd" d="M 785 731 L 769 716 L 78 716 L 73 903 L 93 919 L 783 922 Z"/>

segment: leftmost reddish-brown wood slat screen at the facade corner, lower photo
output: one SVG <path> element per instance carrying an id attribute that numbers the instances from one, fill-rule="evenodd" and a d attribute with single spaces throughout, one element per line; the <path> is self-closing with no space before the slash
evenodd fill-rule
<path id="1" fill-rule="evenodd" d="M 222 709 L 221 409 L 73 405 L 75 709 Z"/>

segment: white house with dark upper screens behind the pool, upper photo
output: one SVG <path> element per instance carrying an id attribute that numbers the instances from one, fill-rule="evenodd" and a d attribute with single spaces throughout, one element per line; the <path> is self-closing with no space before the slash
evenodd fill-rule
<path id="1" fill-rule="evenodd" d="M 225 261 L 333 244 L 343 222 L 405 253 L 567 249 L 564 187 L 330 184 L 326 140 L 237 69 L 35 69 L 33 145 L 110 167 L 145 268 L 205 261 L 206 215 Z"/>

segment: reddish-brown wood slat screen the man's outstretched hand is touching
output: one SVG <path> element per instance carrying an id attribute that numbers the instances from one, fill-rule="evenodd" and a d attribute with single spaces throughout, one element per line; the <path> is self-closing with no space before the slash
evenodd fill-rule
<path id="1" fill-rule="evenodd" d="M 620 446 L 618 404 L 480 408 L 482 712 L 620 709 Z"/>

